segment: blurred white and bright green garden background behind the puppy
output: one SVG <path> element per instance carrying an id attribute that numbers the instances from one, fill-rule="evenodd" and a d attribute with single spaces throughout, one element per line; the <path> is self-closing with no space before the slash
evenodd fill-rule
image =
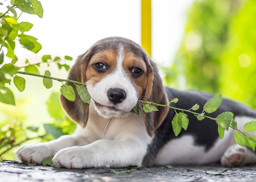
<path id="1" fill-rule="evenodd" d="M 75 59 L 105 37 L 122 36 L 141 44 L 140 0 L 41 0 L 41 4 L 42 19 L 23 13 L 19 20 L 34 24 L 29 34 L 38 38 L 42 49 L 34 54 L 15 48 L 18 66 L 26 59 L 38 63 L 45 54 Z M 0 10 L 6 11 L 4 6 Z M 256 108 L 255 22 L 255 0 L 151 0 L 151 57 L 165 85 L 221 93 Z M 74 60 L 67 64 L 72 66 Z M 54 63 L 48 68 L 41 65 L 40 73 L 45 70 L 52 77 L 67 77 L 67 71 Z M 54 123 L 59 135 L 75 128 L 58 103 L 60 82 L 53 81 L 53 87 L 46 89 L 41 78 L 24 78 L 23 92 L 13 82 L 9 86 L 16 106 L 0 103 L 0 159 L 15 159 L 17 148 L 8 149 L 19 142 L 58 137 L 44 136 L 43 124 Z M 37 136 L 44 137 L 29 139 Z"/>

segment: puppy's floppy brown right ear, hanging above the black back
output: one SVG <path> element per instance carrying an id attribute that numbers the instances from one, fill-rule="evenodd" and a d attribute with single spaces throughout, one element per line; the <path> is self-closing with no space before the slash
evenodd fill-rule
<path id="1" fill-rule="evenodd" d="M 169 101 L 167 94 L 164 91 L 157 65 L 153 63 L 148 56 L 145 62 L 147 66 L 148 83 L 144 99 L 157 104 L 167 105 Z M 157 106 L 157 109 L 159 111 L 153 111 L 151 113 L 143 112 L 146 131 L 150 137 L 153 137 L 154 131 L 160 126 L 169 111 L 169 108 L 166 107 Z"/>

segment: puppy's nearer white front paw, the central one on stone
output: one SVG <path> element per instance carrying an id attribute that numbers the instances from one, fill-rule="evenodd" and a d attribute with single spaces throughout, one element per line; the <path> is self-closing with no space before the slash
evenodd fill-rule
<path id="1" fill-rule="evenodd" d="M 52 161 L 58 168 L 92 168 L 95 167 L 93 162 L 93 152 L 87 152 L 84 147 L 69 147 L 58 151 Z"/>

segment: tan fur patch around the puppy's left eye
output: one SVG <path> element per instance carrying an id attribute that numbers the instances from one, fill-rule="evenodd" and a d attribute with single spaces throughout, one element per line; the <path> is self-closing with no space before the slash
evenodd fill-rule
<path id="1" fill-rule="evenodd" d="M 108 49 L 94 54 L 87 66 L 87 83 L 91 83 L 94 86 L 97 82 L 100 82 L 100 80 L 102 80 L 107 74 L 112 73 L 116 69 L 116 59 L 117 50 L 115 49 Z M 108 68 L 107 71 L 102 73 L 96 71 L 96 69 L 94 68 L 95 63 L 105 63 Z"/>

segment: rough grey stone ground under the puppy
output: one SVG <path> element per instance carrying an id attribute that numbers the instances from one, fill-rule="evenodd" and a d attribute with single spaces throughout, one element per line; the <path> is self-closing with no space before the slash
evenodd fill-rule
<path id="1" fill-rule="evenodd" d="M 114 169 L 127 171 L 128 168 Z M 199 170 L 199 171 L 195 171 Z M 205 171 L 222 172 L 214 176 Z M 111 168 L 64 169 L 51 166 L 28 166 L 15 161 L 0 163 L 0 182 L 255 182 L 256 165 L 243 168 L 223 168 L 218 164 L 207 166 L 161 166 L 142 168 L 131 173 L 113 173 Z"/>

